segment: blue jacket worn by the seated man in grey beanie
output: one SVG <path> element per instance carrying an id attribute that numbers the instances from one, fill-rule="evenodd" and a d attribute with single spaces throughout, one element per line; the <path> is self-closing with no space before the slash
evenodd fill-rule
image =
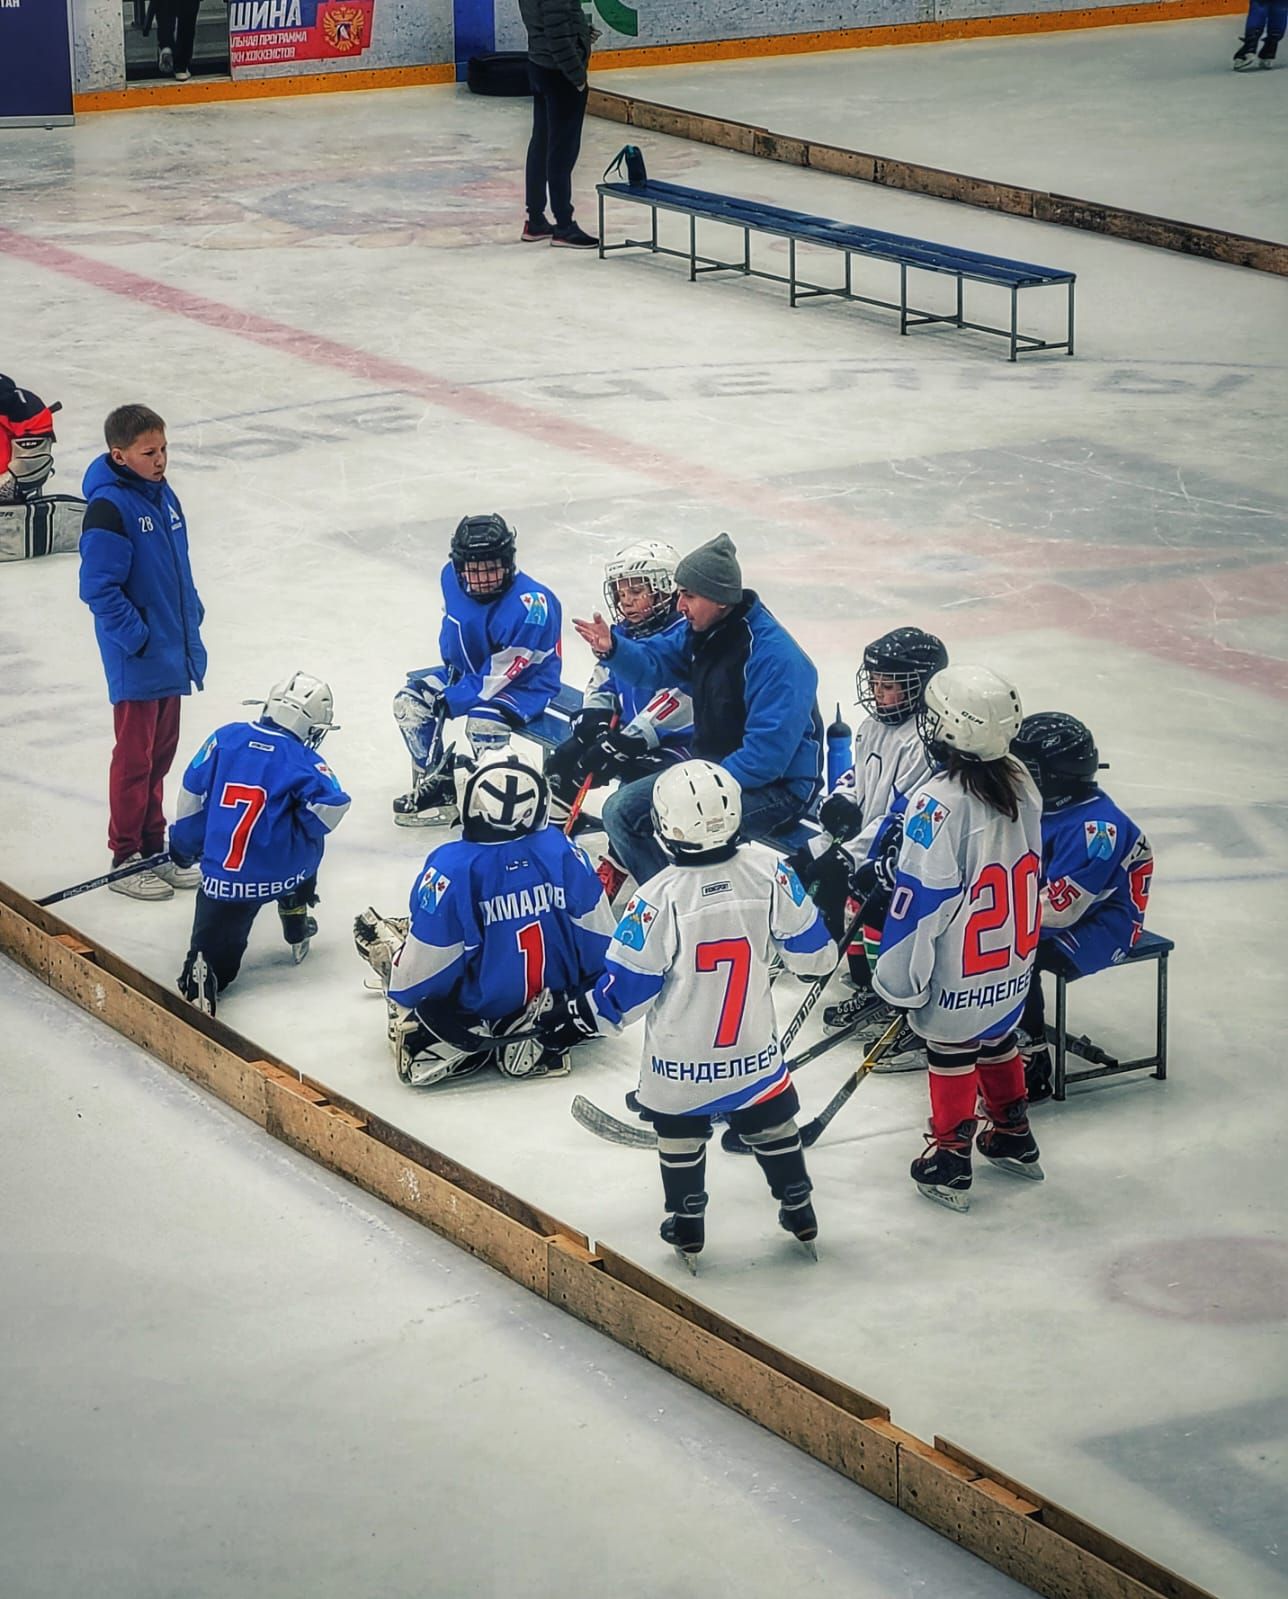
<path id="1" fill-rule="evenodd" d="M 743 788 L 786 782 L 809 804 L 823 785 L 818 672 L 781 622 L 749 590 L 705 633 L 692 627 L 652 638 L 612 630 L 612 673 L 652 692 L 694 696 L 694 755 L 716 761 Z"/>

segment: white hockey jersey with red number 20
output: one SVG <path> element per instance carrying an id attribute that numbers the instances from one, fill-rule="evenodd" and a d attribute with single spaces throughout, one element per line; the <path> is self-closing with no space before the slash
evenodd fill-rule
<path id="1" fill-rule="evenodd" d="M 1015 822 L 935 772 L 912 796 L 873 987 L 922 1038 L 996 1038 L 1024 1007 L 1039 939 L 1042 800 Z"/>

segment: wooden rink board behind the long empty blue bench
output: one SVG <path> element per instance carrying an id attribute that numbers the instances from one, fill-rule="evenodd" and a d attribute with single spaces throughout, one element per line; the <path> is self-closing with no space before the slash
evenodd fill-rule
<path id="1" fill-rule="evenodd" d="M 1151 216 L 1147 211 L 1128 211 L 1125 206 L 1099 205 L 1095 200 L 1077 200 L 1072 195 L 1024 189 L 1020 184 L 970 177 L 965 173 L 924 166 L 920 161 L 898 161 L 888 155 L 847 150 L 837 144 L 797 139 L 746 122 L 684 110 L 679 106 L 662 106 L 657 101 L 615 94 L 609 90 L 591 88 L 586 109 L 591 117 L 626 123 L 626 126 L 642 128 L 649 133 L 665 133 L 676 139 L 692 139 L 697 144 L 713 144 L 738 155 L 756 155 L 761 160 L 785 161 L 789 166 L 809 166 L 834 177 L 853 177 L 858 182 L 882 184 L 887 189 L 930 195 L 936 200 L 957 200 L 962 205 L 1002 211 L 1007 216 L 1029 217 L 1034 222 L 1106 233 L 1133 245 L 1152 245 L 1157 249 L 1173 249 L 1184 256 L 1202 256 L 1226 265 L 1251 267 L 1254 272 L 1288 277 L 1288 245 L 1269 238 L 1227 233 L 1218 227 L 1178 222 L 1165 216 Z"/>

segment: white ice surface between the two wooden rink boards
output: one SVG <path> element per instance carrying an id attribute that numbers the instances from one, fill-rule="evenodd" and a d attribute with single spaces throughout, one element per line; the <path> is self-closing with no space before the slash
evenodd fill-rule
<path id="1" fill-rule="evenodd" d="M 1218 30 L 1187 27 L 1210 61 Z M 1155 35 L 1181 30 L 1114 32 L 1144 64 Z M 1000 45 L 898 54 L 928 82 L 972 48 Z M 852 58 L 828 61 L 845 72 Z M 1229 91 L 1219 67 L 1202 78 L 1211 94 Z M 694 99 L 727 72 L 690 69 Z M 666 77 L 665 94 L 642 88 L 676 102 Z M 1286 82 L 1264 77 L 1258 93 Z M 1016 82 L 1051 106 L 1051 74 Z M 1194 82 L 1159 85 L 1168 104 L 1183 93 Z M 1219 139 L 1197 114 L 1192 126 L 1203 150 Z M 1071 109 L 1071 144 L 1083 128 Z M 51 488 L 75 492 L 110 406 L 145 400 L 169 422 L 211 654 L 181 756 L 294 667 L 336 691 L 342 731 L 326 755 L 355 806 L 323 868 L 321 934 L 294 969 L 265 913 L 221 1015 L 671 1271 L 652 1158 L 594 1142 L 567 1115 L 578 1091 L 620 1111 L 636 1038 L 586 1051 L 569 1079 L 475 1078 L 417 1095 L 396 1083 L 380 1003 L 363 990 L 350 921 L 368 903 L 400 910 L 433 843 L 390 822 L 406 760 L 388 700 L 406 668 L 433 659 L 451 529 L 500 510 L 523 564 L 570 616 L 599 601 L 602 561 L 633 539 L 686 548 L 725 528 L 746 582 L 817 660 L 828 713 L 852 704 L 866 640 L 901 624 L 938 632 L 956 659 L 1012 675 L 1026 708 L 1082 716 L 1112 763 L 1106 787 L 1146 825 L 1149 924 L 1178 943 L 1170 1081 L 1123 1079 L 1040 1108 L 1047 1182 L 980 1172 L 959 1217 L 908 1180 L 924 1078 L 871 1079 L 810 1158 L 820 1263 L 777 1231 L 749 1162 L 713 1151 L 708 1249 L 686 1287 L 887 1402 L 919 1436 L 952 1439 L 1214 1593 L 1288 1594 L 1283 280 L 641 139 L 658 176 L 1075 270 L 1077 357 L 1010 366 L 1000 341 L 900 339 L 881 312 L 789 312 L 762 283 L 689 285 L 676 262 L 521 246 L 526 130 L 523 102 L 430 90 L 0 134 L 0 184 L 16 197 L 0 230 L 11 310 L 0 368 L 64 405 Z M 1194 219 L 1219 224 L 1222 185 L 1208 192 L 1184 134 L 1163 154 L 1194 190 Z M 622 136 L 588 125 L 583 221 Z M 1018 177 L 989 169 L 994 136 L 981 90 L 936 165 Z M 1234 169 L 1245 155 L 1232 126 L 1221 161 Z M 1131 144 L 1115 152 L 1115 179 L 1135 158 Z M 1044 182 L 1115 198 L 1088 193 L 1095 174 L 1082 176 L 1053 163 Z M 42 894 L 104 868 L 110 712 L 75 560 L 5 566 L 0 585 L 0 878 Z M 570 627 L 564 646 L 564 676 L 580 684 L 590 657 Z M 187 900 L 104 892 L 66 908 L 153 975 L 177 972 Z M 1074 1030 L 1139 1052 L 1149 975 L 1080 985 Z M 789 988 L 783 1012 L 801 993 Z M 40 1030 L 38 1049 L 8 1052 L 8 1073 L 29 1071 L 54 1028 L 69 1060 L 97 1075 L 107 1046 L 77 1015 L 26 983 L 6 983 L 5 1006 L 11 1038 Z M 802 1073 L 807 1115 L 853 1065 L 837 1051 Z M 105 1095 L 131 1073 L 118 1067 Z M 184 1119 L 176 1110 L 177 1140 Z M 225 1142 L 243 1132 L 254 1137 L 230 1122 Z M 22 1137 L 48 1151 L 37 1170 L 74 1159 L 66 1134 L 32 1110 Z M 192 1183 L 203 1159 L 168 1182 Z M 35 1178 L 26 1198 L 40 1201 Z M 380 1215 L 425 1260 L 470 1266 Z M 289 1230 L 280 1242 L 296 1247 Z M 232 1231 L 227 1247 L 240 1247 Z M 479 1282 L 489 1300 L 510 1292 Z M 93 1318 L 93 1292 L 69 1271 L 50 1322 L 64 1294 Z M 46 1327 L 34 1316 L 21 1330 L 35 1340 Z M 427 1374 L 451 1359 L 433 1327 L 407 1337 Z M 500 1351 L 499 1378 L 523 1358 Z M 962 1585 L 986 1581 L 962 1561 L 975 1573 Z M 887 1591 L 922 1585 L 940 1586 L 928 1565 Z"/>

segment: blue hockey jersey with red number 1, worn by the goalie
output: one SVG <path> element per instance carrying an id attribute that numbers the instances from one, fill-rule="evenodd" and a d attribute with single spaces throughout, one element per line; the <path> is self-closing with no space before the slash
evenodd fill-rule
<path id="1" fill-rule="evenodd" d="M 553 827 L 497 844 L 435 849 L 411 892 L 388 996 L 495 1022 L 542 990 L 588 988 L 614 916 L 586 854 Z"/>

